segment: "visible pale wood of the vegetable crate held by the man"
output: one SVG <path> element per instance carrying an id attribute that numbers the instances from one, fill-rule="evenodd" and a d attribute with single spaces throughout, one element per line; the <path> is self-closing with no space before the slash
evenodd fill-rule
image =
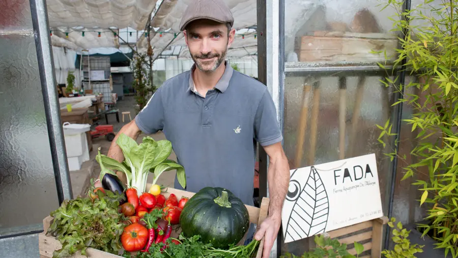
<path id="1" fill-rule="evenodd" d="M 147 184 L 147 189 L 151 184 Z M 185 197 L 192 197 L 195 193 L 192 192 L 187 192 L 187 191 L 182 191 L 174 188 L 168 188 L 166 190 L 166 193 L 163 193 L 165 197 L 168 197 L 171 193 L 175 194 L 177 198 L 181 198 L 182 196 Z M 250 205 L 245 205 L 246 208 L 248 209 L 248 213 L 250 216 L 250 223 L 253 224 L 260 224 L 262 223 L 266 218 L 267 218 L 267 211 L 269 208 L 269 198 L 263 198 L 263 201 L 261 202 L 261 208 L 253 207 Z M 50 236 L 49 234 L 46 234 L 49 226 L 52 223 L 53 218 L 51 216 L 46 217 L 43 220 L 43 233 L 40 233 L 38 235 L 38 240 L 39 240 L 39 248 L 40 248 L 40 257 L 41 258 L 51 258 L 52 257 L 52 252 L 54 250 L 59 250 L 62 248 L 62 244 L 59 242 L 59 240 L 56 240 L 54 237 Z M 173 231 L 172 237 L 177 237 L 179 232 Z M 174 236 L 175 235 L 175 236 Z M 239 242 L 243 243 L 243 240 L 245 237 Z M 264 239 L 261 240 L 260 245 L 259 245 L 259 250 L 257 251 L 256 258 L 261 258 L 262 257 L 262 250 L 264 246 Z M 78 251 L 77 253 L 73 254 L 71 257 L 72 258 L 116 258 L 116 257 L 121 257 L 115 254 L 103 252 L 97 249 L 93 248 L 88 248 L 87 249 L 87 254 L 88 256 L 81 255 L 80 252 Z"/>

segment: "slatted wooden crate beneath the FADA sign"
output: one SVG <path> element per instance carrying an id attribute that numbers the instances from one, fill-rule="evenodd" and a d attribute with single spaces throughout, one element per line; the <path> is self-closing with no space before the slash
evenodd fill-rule
<path id="1" fill-rule="evenodd" d="M 356 255 L 356 249 L 353 247 L 353 243 L 356 241 L 363 245 L 364 252 L 370 252 L 370 254 L 360 258 L 380 258 L 382 256 L 383 225 L 386 223 L 388 223 L 388 218 L 381 217 L 335 229 L 323 235 L 337 239 L 342 244 L 347 244 L 349 247 L 347 250 L 350 254 Z"/>

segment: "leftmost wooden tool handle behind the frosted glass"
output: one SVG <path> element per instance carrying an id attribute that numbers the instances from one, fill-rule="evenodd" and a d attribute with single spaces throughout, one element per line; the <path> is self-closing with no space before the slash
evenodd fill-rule
<path id="1" fill-rule="evenodd" d="M 308 101 L 310 98 L 310 89 L 311 89 L 310 85 L 308 84 L 304 85 L 304 89 L 302 93 L 302 109 L 301 109 L 301 115 L 299 118 L 299 128 L 297 131 L 296 157 L 294 160 L 295 168 L 299 168 L 302 163 L 305 131 L 307 130 Z"/>

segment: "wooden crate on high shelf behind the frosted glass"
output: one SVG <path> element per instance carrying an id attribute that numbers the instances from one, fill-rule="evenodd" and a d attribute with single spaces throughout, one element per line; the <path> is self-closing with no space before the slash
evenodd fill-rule
<path id="1" fill-rule="evenodd" d="M 394 60 L 397 43 L 397 37 L 385 33 L 317 31 L 298 37 L 295 48 L 299 62 L 381 62 L 385 61 L 384 53 L 370 51 L 386 50 L 387 58 Z"/>

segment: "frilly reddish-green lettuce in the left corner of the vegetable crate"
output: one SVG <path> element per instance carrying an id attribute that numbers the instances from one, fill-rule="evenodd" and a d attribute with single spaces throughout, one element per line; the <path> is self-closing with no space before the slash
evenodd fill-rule
<path id="1" fill-rule="evenodd" d="M 53 252 L 53 258 L 69 257 L 78 250 L 86 255 L 88 247 L 118 254 L 122 250 L 120 237 L 125 224 L 118 206 L 124 195 L 105 190 L 97 191 L 97 198 L 77 197 L 65 200 L 59 209 L 51 212 L 54 218 L 48 229 L 62 244 Z"/>

